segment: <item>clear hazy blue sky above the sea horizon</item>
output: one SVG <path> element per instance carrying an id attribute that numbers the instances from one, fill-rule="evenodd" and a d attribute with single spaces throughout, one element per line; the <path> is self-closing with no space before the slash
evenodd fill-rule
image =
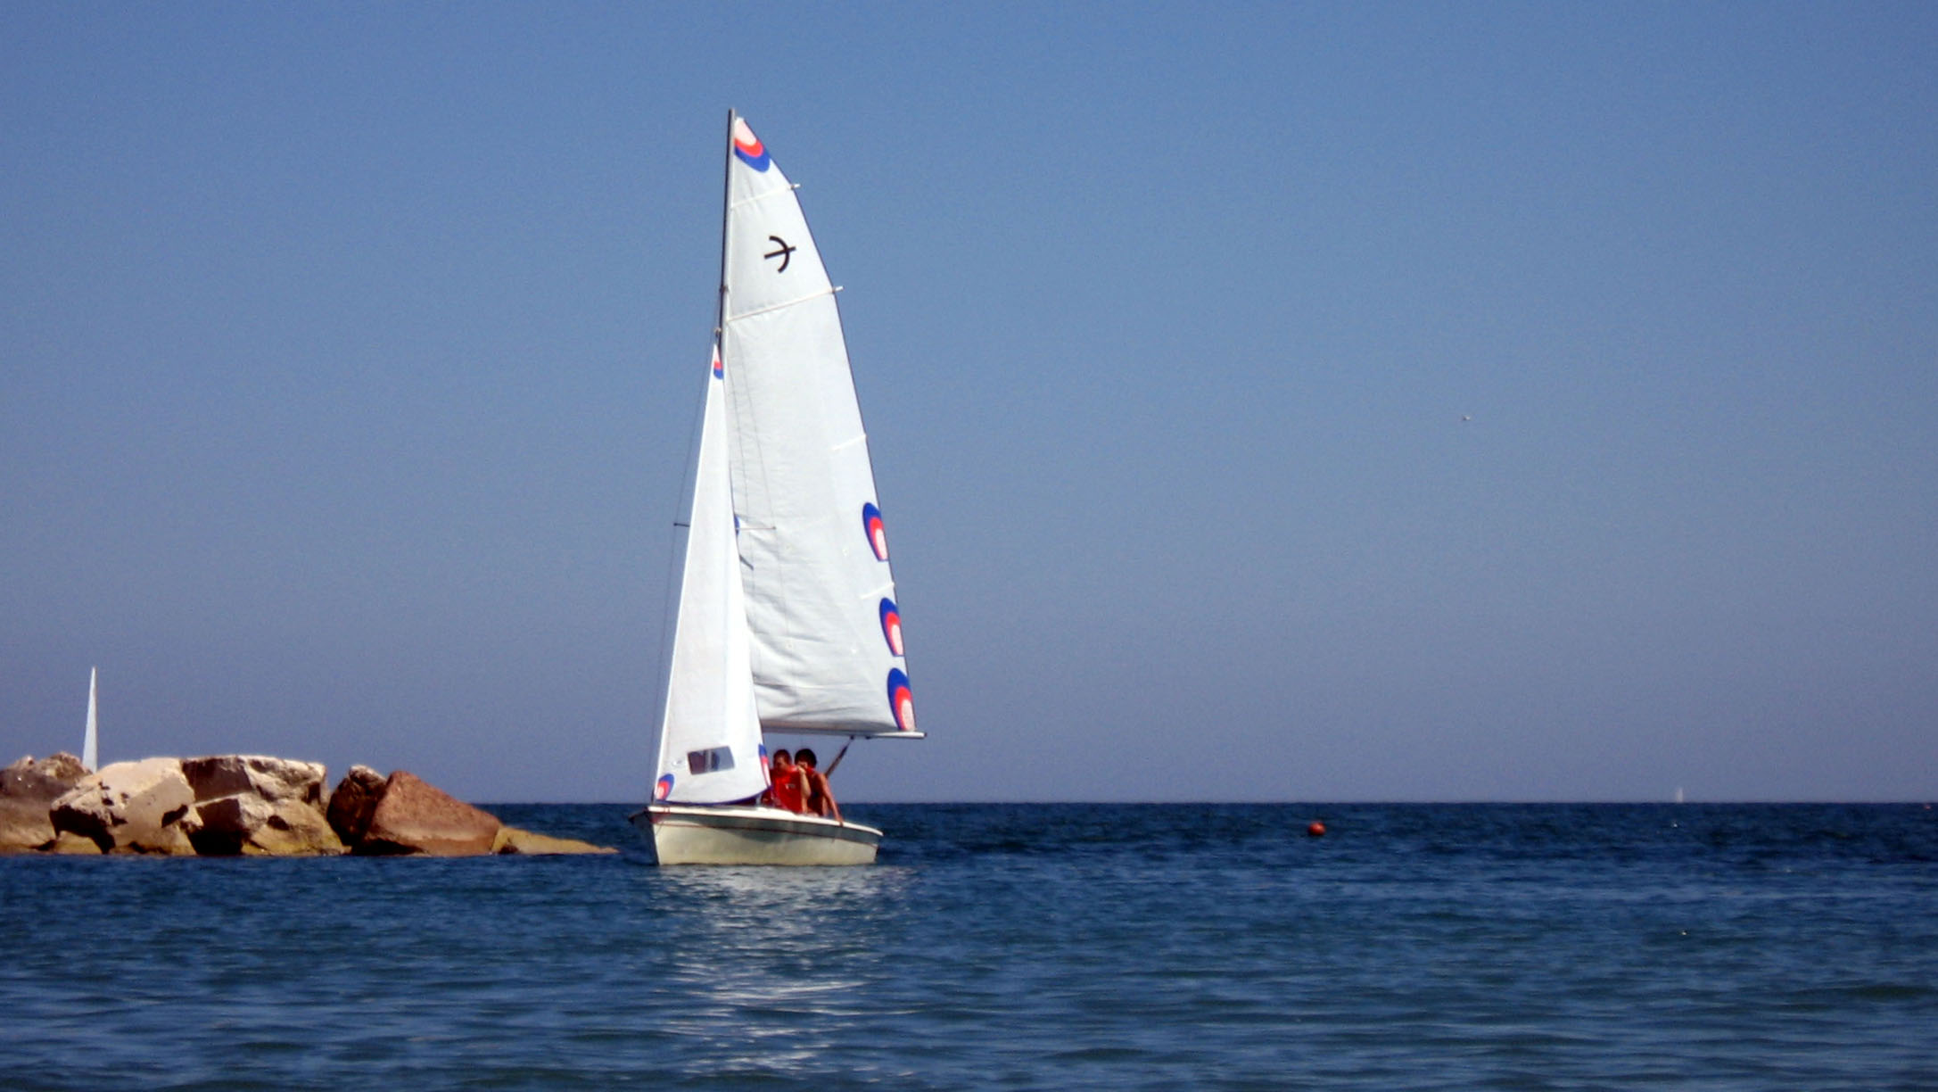
<path id="1" fill-rule="evenodd" d="M 99 665 L 643 799 L 729 107 L 930 733 L 847 799 L 1938 795 L 1921 4 L 12 4 L 0 760 Z"/>

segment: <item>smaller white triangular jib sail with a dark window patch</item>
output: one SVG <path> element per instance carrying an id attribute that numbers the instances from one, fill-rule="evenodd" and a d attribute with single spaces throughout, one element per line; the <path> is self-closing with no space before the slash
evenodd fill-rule
<path id="1" fill-rule="evenodd" d="M 767 787 L 748 669 L 740 557 L 733 539 L 725 400 L 715 349 L 700 425 L 700 462 L 653 799 L 725 803 L 754 797 Z"/>

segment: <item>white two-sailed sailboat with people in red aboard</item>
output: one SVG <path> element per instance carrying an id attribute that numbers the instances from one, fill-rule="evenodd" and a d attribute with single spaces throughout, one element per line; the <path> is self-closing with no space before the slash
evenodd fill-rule
<path id="1" fill-rule="evenodd" d="M 837 289 L 766 145 L 735 112 L 727 138 L 657 776 L 632 822 L 661 865 L 866 865 L 880 830 L 764 803 L 767 731 L 922 733 Z"/>

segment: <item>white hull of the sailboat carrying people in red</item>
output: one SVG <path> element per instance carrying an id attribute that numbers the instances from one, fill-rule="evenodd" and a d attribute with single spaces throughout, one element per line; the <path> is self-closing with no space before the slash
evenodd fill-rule
<path id="1" fill-rule="evenodd" d="M 661 865 L 872 865 L 882 832 L 775 807 L 653 803 L 632 824 Z"/>

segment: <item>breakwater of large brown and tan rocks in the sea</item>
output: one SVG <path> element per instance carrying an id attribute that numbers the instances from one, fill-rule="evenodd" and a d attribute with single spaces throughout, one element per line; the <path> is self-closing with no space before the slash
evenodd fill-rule
<path id="1" fill-rule="evenodd" d="M 267 755 L 143 758 L 89 772 L 72 755 L 0 770 L 0 853 L 203 857 L 610 853 L 504 826 L 407 770 Z"/>

